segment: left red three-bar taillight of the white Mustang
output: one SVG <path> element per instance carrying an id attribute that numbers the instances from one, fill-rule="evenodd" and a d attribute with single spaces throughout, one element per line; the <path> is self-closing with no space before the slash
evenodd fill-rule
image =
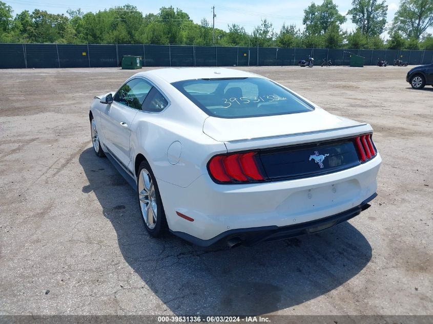
<path id="1" fill-rule="evenodd" d="M 254 182 L 264 180 L 256 152 L 218 155 L 209 162 L 209 173 L 218 182 Z"/>

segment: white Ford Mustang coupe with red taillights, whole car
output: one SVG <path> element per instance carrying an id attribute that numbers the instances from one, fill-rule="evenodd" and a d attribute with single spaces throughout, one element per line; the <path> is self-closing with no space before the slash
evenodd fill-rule
<path id="1" fill-rule="evenodd" d="M 377 196 L 369 124 L 253 73 L 140 72 L 89 117 L 96 155 L 136 188 L 151 236 L 252 245 L 326 229 Z"/>

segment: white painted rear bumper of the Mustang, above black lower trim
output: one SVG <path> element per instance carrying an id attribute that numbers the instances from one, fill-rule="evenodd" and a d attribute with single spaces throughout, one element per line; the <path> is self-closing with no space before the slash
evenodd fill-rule
<path id="1" fill-rule="evenodd" d="M 160 179 L 158 187 L 170 230 L 188 241 L 196 237 L 213 244 L 232 230 L 303 226 L 356 208 L 377 191 L 380 164 L 378 154 L 361 165 L 312 178 L 220 185 L 202 175 L 185 188 Z"/>

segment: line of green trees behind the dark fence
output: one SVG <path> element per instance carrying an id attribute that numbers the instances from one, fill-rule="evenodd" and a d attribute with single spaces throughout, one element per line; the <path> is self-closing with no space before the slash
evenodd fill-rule
<path id="1" fill-rule="evenodd" d="M 0 1 L 0 42 L 59 42 L 67 44 L 155 44 L 197 46 L 304 47 L 352 49 L 431 49 L 433 39 L 425 31 L 433 26 L 432 0 L 401 0 L 400 8 L 384 44 L 380 35 L 386 24 L 387 6 L 380 0 L 353 0 L 348 11 L 358 28 L 343 31 L 346 17 L 333 0 L 312 3 L 304 10 L 301 31 L 283 24 L 279 32 L 263 19 L 250 34 L 238 24 L 228 31 L 213 29 L 203 18 L 200 24 L 179 8 L 162 7 L 143 15 L 132 5 L 117 6 L 96 13 L 81 9 L 51 14 L 35 9 L 13 17 L 10 6 Z M 420 42 L 421 39 L 421 42 Z"/>

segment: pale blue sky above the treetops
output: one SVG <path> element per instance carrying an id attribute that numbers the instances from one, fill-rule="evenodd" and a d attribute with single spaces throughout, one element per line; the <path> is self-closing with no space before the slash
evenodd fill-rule
<path id="1" fill-rule="evenodd" d="M 274 30 L 279 31 L 283 23 L 296 24 L 302 29 L 302 16 L 303 10 L 310 5 L 311 2 L 321 4 L 323 1 L 293 1 L 293 0 L 219 0 L 219 1 L 135 1 L 135 0 L 113 0 L 102 1 L 102 0 L 66 0 L 59 2 L 55 0 L 15 0 L 8 1 L 2 0 L 11 6 L 14 10 L 14 14 L 19 13 L 23 10 L 29 10 L 30 12 L 35 9 L 47 10 L 51 13 L 65 13 L 68 8 L 77 9 L 81 8 L 84 12 L 92 11 L 97 12 L 98 10 L 108 9 L 114 6 L 121 6 L 123 4 L 131 4 L 138 8 L 143 13 L 157 13 L 160 7 L 173 6 L 174 8 L 180 8 L 187 12 L 190 17 L 199 23 L 200 20 L 205 17 L 212 23 L 212 9 L 215 5 L 215 27 L 227 30 L 227 25 L 236 23 L 245 28 L 247 32 L 251 32 L 254 26 L 260 24 L 261 18 L 267 18 L 273 23 Z M 338 10 L 342 14 L 346 14 L 347 10 L 352 7 L 352 1 L 350 0 L 334 0 L 334 3 L 338 5 Z M 388 23 L 393 19 L 396 10 L 398 9 L 398 0 L 387 0 L 388 5 Z M 343 29 L 348 31 L 354 30 L 355 25 L 350 23 L 350 17 L 347 16 L 347 22 L 342 26 Z M 433 28 L 430 28 L 428 32 L 432 32 Z M 387 38 L 385 32 L 382 36 Z"/>

